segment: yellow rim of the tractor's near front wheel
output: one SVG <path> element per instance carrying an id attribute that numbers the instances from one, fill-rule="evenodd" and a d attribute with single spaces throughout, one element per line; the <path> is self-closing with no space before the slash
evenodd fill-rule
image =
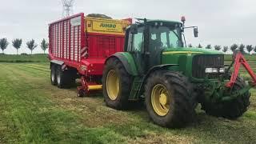
<path id="1" fill-rule="evenodd" d="M 168 114 L 170 110 L 170 96 L 166 86 L 161 84 L 154 86 L 151 92 L 151 104 L 154 112 L 159 116 L 166 116 Z"/>

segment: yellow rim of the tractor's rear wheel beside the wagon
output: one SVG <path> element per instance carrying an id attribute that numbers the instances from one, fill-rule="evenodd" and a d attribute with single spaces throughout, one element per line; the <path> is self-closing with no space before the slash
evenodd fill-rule
<path id="1" fill-rule="evenodd" d="M 119 78 L 114 70 L 110 70 L 106 76 L 106 92 L 111 100 L 118 98 Z"/>

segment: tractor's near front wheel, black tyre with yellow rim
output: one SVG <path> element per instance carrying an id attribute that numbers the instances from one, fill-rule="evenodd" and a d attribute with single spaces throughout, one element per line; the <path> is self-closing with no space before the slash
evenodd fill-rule
<path id="1" fill-rule="evenodd" d="M 182 127 L 194 120 L 193 89 L 185 76 L 177 72 L 156 71 L 145 86 L 146 109 L 150 118 L 165 127 Z"/>

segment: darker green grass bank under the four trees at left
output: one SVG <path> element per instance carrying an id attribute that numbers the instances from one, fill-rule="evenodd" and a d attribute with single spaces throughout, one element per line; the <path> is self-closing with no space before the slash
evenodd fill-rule
<path id="1" fill-rule="evenodd" d="M 0 62 L 49 62 L 47 54 L 0 54 Z"/>

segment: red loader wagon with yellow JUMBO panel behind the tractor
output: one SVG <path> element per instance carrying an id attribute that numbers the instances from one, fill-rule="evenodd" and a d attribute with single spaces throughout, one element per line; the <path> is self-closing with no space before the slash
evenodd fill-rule
<path id="1" fill-rule="evenodd" d="M 78 96 L 102 90 L 106 58 L 123 51 L 126 26 L 131 19 L 85 17 L 83 13 L 49 26 L 50 80 L 54 86 L 69 88 L 81 78 Z"/>

